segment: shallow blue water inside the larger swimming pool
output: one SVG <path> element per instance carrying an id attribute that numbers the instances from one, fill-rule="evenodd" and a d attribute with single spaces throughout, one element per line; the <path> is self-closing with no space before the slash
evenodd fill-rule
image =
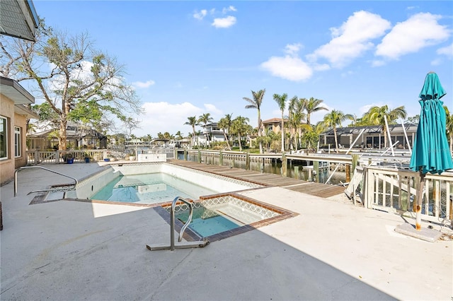
<path id="1" fill-rule="evenodd" d="M 159 172 L 120 175 L 98 193 L 91 196 L 91 199 L 152 204 L 171 201 L 176 196 L 185 199 L 198 199 L 202 195 L 216 193 L 218 191 Z"/>

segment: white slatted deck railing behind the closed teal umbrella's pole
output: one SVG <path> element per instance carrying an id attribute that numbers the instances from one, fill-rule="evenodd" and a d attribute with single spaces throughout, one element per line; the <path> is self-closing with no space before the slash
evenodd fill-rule
<path id="1" fill-rule="evenodd" d="M 411 170 L 365 167 L 362 194 L 365 207 L 415 218 L 420 174 Z M 452 225 L 453 172 L 425 175 L 422 219 Z"/>

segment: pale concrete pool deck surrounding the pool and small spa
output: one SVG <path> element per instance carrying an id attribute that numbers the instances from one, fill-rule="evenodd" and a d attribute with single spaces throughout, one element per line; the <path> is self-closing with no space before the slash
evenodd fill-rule
<path id="1" fill-rule="evenodd" d="M 82 179 L 105 163 L 42 165 Z M 298 213 L 199 249 L 170 240 L 154 208 L 81 201 L 29 205 L 67 178 L 45 170 L 2 186 L 1 300 L 452 300 L 453 242 L 394 229 L 401 216 L 282 187 L 241 191 Z M 413 220 L 408 220 L 413 222 Z M 422 223 L 423 228 L 428 225 Z M 434 225 L 435 231 L 451 234 Z M 176 235 L 177 236 L 177 235 Z"/>

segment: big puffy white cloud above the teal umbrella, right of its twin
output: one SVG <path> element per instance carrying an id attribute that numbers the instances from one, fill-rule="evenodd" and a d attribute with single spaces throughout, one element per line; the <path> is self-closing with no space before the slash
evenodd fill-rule
<path id="1" fill-rule="evenodd" d="M 417 13 L 408 20 L 397 23 L 377 45 L 376 55 L 386 59 L 398 59 L 404 54 L 437 45 L 451 35 L 447 26 L 437 23 L 441 16 Z"/>

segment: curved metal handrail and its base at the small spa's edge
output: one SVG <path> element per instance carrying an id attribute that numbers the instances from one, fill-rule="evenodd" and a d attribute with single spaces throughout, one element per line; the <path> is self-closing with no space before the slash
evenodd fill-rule
<path id="1" fill-rule="evenodd" d="M 173 199 L 173 202 L 171 203 L 171 212 L 170 212 L 170 245 L 157 245 L 154 247 L 150 247 L 147 244 L 147 249 L 149 251 L 156 251 L 156 250 L 165 250 L 169 249 L 173 251 L 174 249 L 188 249 L 188 248 L 202 248 L 207 246 L 207 244 L 210 243 L 209 240 L 204 238 L 203 240 L 199 240 L 197 242 L 183 242 L 181 244 L 175 244 L 175 206 L 178 201 L 182 201 L 183 203 L 186 203 L 189 207 L 189 217 L 185 224 L 183 225 L 183 228 L 181 228 L 179 232 L 179 237 L 178 237 L 178 242 L 183 240 L 183 233 L 185 231 L 185 228 L 188 228 L 188 225 L 192 221 L 192 215 L 193 215 L 193 204 L 190 203 L 189 201 L 186 201 L 185 199 L 181 198 L 180 196 L 176 196 L 175 199 Z"/>

